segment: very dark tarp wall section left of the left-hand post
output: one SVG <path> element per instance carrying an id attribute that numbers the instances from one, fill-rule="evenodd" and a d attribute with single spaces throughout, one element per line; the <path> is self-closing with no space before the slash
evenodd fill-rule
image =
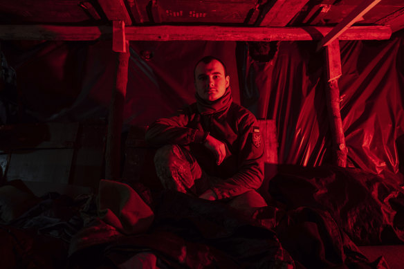
<path id="1" fill-rule="evenodd" d="M 8 123 L 84 120 L 104 116 L 115 71 L 107 42 L 1 42 L 8 64 L 17 73 L 17 98 L 8 100 L 19 115 Z M 8 89 L 3 91 L 8 97 Z"/>

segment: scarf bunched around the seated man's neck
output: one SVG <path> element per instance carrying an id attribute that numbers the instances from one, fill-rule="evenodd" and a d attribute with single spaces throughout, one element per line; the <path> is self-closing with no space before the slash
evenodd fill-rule
<path id="1" fill-rule="evenodd" d="M 204 100 L 198 95 L 198 93 L 195 93 L 195 98 L 198 111 L 203 115 L 226 111 L 233 100 L 230 86 L 228 86 L 223 96 L 217 100 L 214 101 Z"/>

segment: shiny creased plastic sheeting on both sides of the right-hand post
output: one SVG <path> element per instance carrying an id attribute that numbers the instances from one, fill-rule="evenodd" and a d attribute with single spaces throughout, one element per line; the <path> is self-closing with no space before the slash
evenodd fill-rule
<path id="1" fill-rule="evenodd" d="M 243 95 L 248 96 L 245 104 L 256 115 L 276 120 L 279 163 L 318 166 L 329 160 L 325 59 L 315 46 L 281 42 L 268 63 L 246 57 L 246 82 L 241 87 L 249 91 Z M 343 41 L 340 50 L 338 85 L 349 166 L 403 183 L 396 147 L 404 127 L 403 38 Z M 268 107 L 255 106 L 266 104 L 263 97 Z"/>

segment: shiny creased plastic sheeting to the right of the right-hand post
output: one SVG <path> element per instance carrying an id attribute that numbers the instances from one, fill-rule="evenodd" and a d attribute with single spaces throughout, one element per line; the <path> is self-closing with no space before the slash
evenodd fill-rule
<path id="1" fill-rule="evenodd" d="M 403 38 L 342 46 L 347 75 L 340 79 L 341 115 L 349 159 L 386 177 L 398 172 L 396 142 L 404 133 L 403 52 Z"/>

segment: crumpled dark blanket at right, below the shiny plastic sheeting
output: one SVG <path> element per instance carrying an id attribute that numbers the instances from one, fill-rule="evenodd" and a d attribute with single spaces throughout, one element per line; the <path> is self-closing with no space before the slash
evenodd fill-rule
<path id="1" fill-rule="evenodd" d="M 356 245 L 404 243 L 404 191 L 360 169 L 283 165 L 268 184 L 279 207 L 329 212 Z"/>

